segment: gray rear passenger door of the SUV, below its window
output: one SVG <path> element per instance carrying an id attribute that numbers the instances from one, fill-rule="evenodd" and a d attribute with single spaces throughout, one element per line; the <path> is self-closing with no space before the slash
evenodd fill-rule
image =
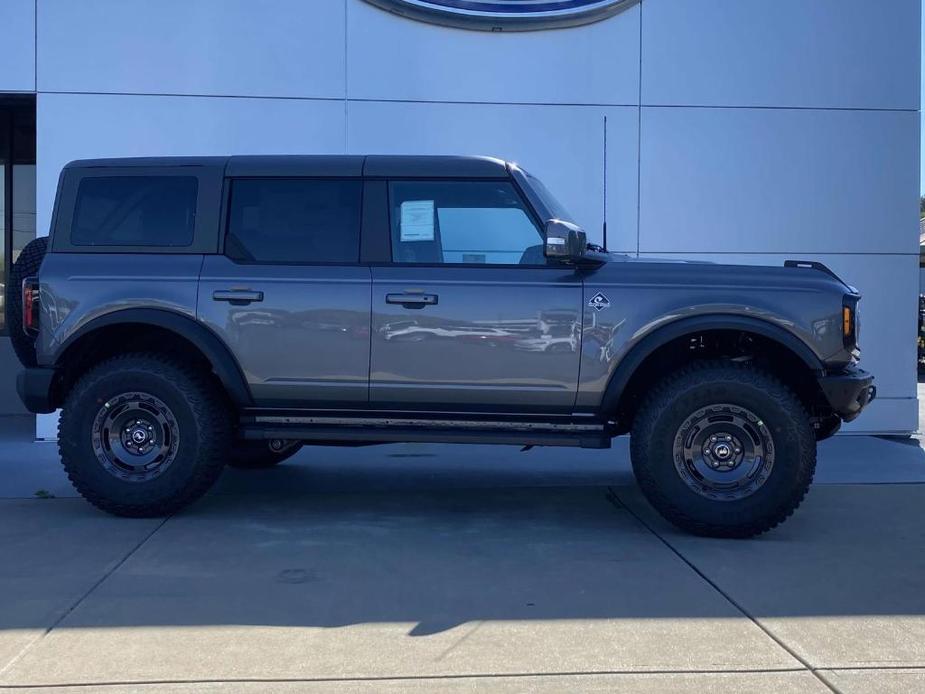
<path id="1" fill-rule="evenodd" d="M 245 306 L 215 292 L 246 289 Z M 207 256 L 199 319 L 237 357 L 263 405 L 363 406 L 369 378 L 369 268 L 244 265 Z"/>

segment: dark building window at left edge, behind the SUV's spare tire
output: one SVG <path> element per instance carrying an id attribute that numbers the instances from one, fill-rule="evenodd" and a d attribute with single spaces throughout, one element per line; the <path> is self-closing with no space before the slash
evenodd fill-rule
<path id="1" fill-rule="evenodd" d="M 34 238 L 35 99 L 8 97 L 0 99 L 0 309 L 10 268 Z"/>

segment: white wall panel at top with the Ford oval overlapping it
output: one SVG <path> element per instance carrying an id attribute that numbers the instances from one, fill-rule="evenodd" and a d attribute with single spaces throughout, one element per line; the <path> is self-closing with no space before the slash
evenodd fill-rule
<path id="1" fill-rule="evenodd" d="M 639 7 L 565 31 L 486 34 L 347 4 L 353 99 L 639 103 Z"/>

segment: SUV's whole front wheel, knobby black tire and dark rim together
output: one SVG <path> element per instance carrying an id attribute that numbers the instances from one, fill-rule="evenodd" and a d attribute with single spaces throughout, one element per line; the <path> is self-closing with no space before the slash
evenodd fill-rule
<path id="1" fill-rule="evenodd" d="M 730 362 L 665 378 L 636 415 L 633 471 L 646 498 L 683 530 L 752 537 L 800 505 L 816 439 L 794 393 L 769 373 Z"/>

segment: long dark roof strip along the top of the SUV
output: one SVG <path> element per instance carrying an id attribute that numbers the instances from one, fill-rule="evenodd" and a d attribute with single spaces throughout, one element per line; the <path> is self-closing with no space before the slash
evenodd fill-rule
<path id="1" fill-rule="evenodd" d="M 507 162 L 493 157 L 351 154 L 256 154 L 229 157 L 78 159 L 79 168 L 223 167 L 226 176 L 428 176 L 506 178 Z"/>

